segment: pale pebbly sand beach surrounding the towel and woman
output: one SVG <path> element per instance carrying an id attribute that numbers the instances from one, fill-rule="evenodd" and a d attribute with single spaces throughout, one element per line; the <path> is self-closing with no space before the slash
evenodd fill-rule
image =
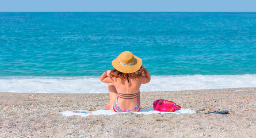
<path id="1" fill-rule="evenodd" d="M 71 116 L 105 109 L 101 94 L 0 93 L 0 137 L 256 137 L 256 88 L 142 92 L 142 108 L 169 99 L 195 114 Z M 204 114 L 208 109 L 230 114 Z"/>

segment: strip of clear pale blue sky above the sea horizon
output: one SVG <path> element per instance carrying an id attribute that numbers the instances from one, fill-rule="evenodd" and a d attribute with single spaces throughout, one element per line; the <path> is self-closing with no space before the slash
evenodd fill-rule
<path id="1" fill-rule="evenodd" d="M 0 0 L 0 11 L 256 11 L 256 0 Z"/>

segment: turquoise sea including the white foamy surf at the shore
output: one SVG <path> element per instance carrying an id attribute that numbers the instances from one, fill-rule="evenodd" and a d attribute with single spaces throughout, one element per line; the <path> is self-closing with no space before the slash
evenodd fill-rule
<path id="1" fill-rule="evenodd" d="M 256 87 L 256 13 L 0 13 L 0 91 L 108 93 L 123 51 L 141 91 Z"/>

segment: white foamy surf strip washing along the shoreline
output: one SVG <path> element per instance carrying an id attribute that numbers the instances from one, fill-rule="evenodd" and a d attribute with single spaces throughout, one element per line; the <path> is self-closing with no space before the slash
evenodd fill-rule
<path id="1" fill-rule="evenodd" d="M 253 75 L 164 75 L 151 76 L 140 91 L 173 91 L 256 87 Z M 15 93 L 108 93 L 100 76 L 2 76 L 0 91 Z"/>

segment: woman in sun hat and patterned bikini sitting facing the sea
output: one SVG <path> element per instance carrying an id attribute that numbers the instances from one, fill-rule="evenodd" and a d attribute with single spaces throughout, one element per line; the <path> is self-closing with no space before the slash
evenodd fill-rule
<path id="1" fill-rule="evenodd" d="M 142 66 L 142 59 L 125 51 L 112 61 L 113 70 L 106 70 L 101 81 L 108 83 L 110 104 L 114 112 L 139 112 L 140 86 L 150 82 L 150 74 Z"/>

